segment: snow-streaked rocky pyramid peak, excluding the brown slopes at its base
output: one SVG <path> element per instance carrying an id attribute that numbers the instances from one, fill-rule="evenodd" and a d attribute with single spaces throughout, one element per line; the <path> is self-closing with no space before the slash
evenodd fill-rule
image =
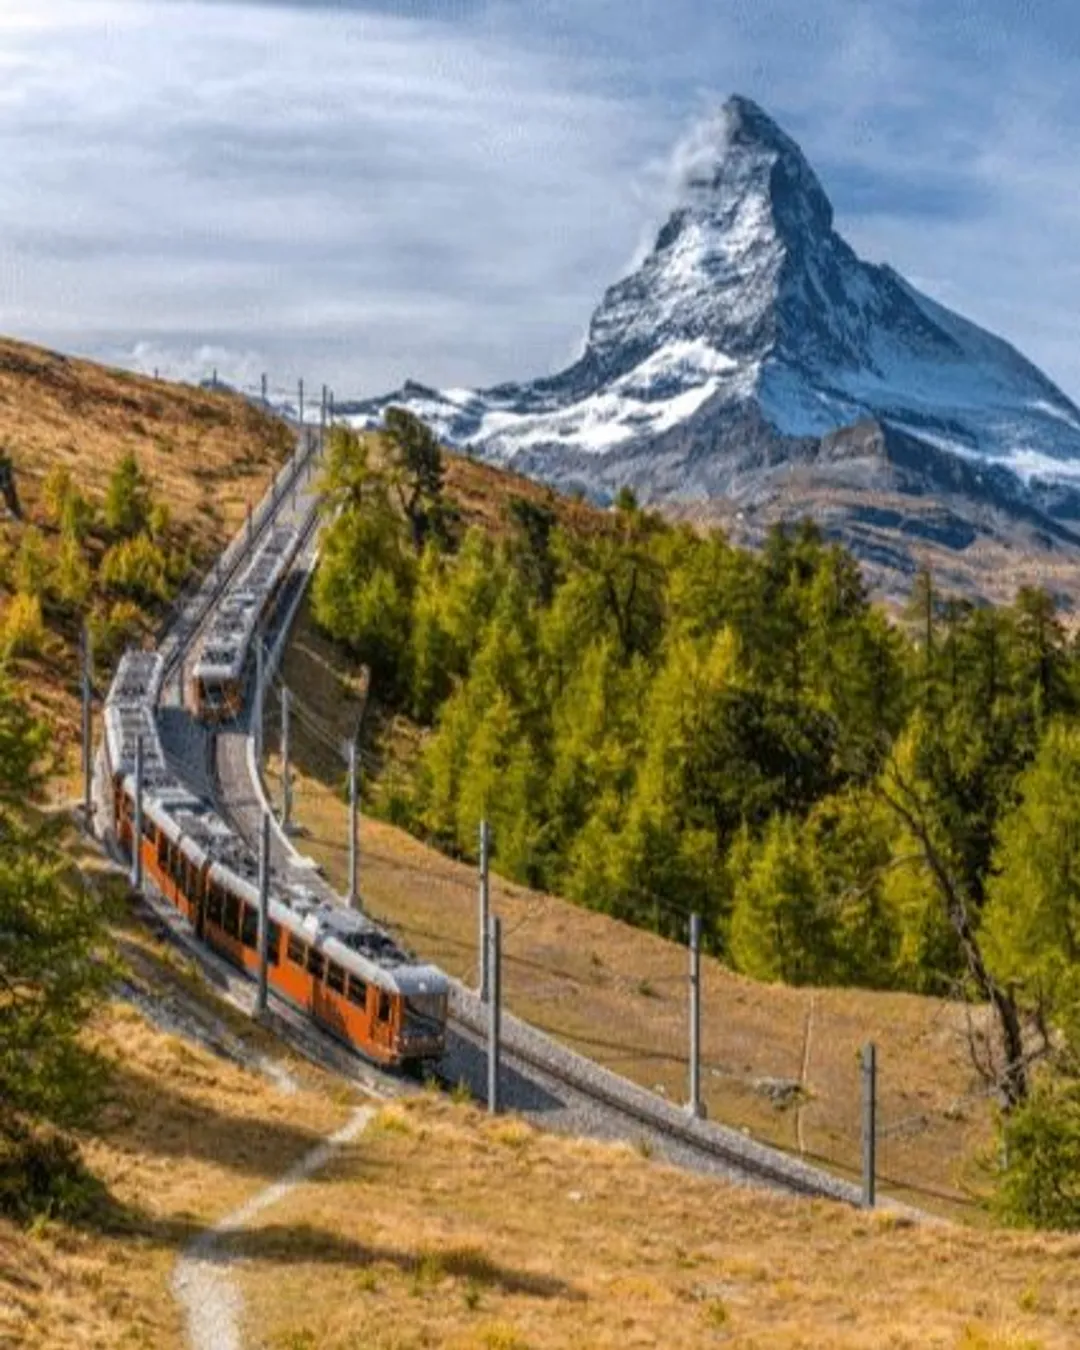
<path id="1" fill-rule="evenodd" d="M 676 162 L 671 215 L 574 364 L 486 392 L 408 385 L 356 420 L 404 404 L 451 444 L 597 495 L 752 494 L 763 463 L 865 423 L 909 458 L 918 444 L 938 467 L 1004 473 L 1021 495 L 1080 486 L 1080 410 L 1006 342 L 859 259 L 757 104 L 730 99 Z"/>

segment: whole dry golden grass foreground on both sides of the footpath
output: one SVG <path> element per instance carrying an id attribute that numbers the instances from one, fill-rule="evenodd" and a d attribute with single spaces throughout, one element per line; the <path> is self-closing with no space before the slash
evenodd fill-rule
<path id="1" fill-rule="evenodd" d="M 350 1114 L 352 1089 L 215 1006 L 122 927 L 157 1003 L 188 1000 L 297 1080 L 150 1025 L 126 1004 L 89 1040 L 108 1104 L 80 1134 L 104 1185 L 78 1226 L 0 1220 L 0 1346 L 180 1347 L 171 1277 L 192 1238 Z M 628 1145 L 547 1137 L 421 1095 L 382 1108 L 329 1168 L 227 1239 L 244 1343 L 1066 1347 L 1076 1239 L 913 1227 L 690 1179 Z"/>

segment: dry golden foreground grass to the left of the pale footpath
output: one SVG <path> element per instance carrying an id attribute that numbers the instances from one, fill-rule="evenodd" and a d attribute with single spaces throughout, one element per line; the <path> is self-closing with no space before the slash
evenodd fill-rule
<path id="1" fill-rule="evenodd" d="M 119 936 L 142 980 L 158 991 L 192 987 L 177 969 L 182 963 L 138 927 Z M 350 1089 L 204 1002 L 286 1065 L 301 1089 L 286 1096 L 126 1004 L 105 1008 L 88 1041 L 109 1068 L 107 1106 L 77 1138 L 109 1200 L 101 1222 L 84 1226 L 49 1222 L 27 1231 L 0 1219 L 3 1350 L 182 1346 L 170 1280 L 185 1243 L 346 1118 Z M 317 1235 L 288 1237 L 302 1250 Z"/>

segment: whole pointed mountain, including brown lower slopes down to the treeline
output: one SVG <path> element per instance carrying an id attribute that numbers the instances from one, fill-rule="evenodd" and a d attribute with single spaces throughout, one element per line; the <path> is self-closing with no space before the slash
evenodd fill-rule
<path id="1" fill-rule="evenodd" d="M 701 128 L 679 204 L 572 366 L 482 392 L 406 382 L 342 410 L 367 424 L 389 404 L 485 459 L 601 501 L 629 485 L 737 537 L 815 516 L 887 593 L 930 562 L 998 594 L 1010 555 L 1049 560 L 1017 579 L 1080 580 L 1080 410 L 1008 343 L 859 259 L 799 147 L 747 99 Z"/>

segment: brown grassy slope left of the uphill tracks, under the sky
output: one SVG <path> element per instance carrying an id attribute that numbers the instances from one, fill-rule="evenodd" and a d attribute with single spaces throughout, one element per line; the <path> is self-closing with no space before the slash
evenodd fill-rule
<path id="1" fill-rule="evenodd" d="M 0 451 L 15 470 L 23 520 L 0 504 L 0 625 L 18 589 L 18 559 L 27 531 L 38 531 L 46 564 L 59 531 L 45 500 L 50 474 L 68 470 L 74 487 L 100 513 L 109 475 L 132 452 L 153 500 L 167 509 L 162 548 L 184 568 L 209 564 L 262 495 L 270 474 L 292 451 L 284 423 L 228 394 L 170 385 L 108 370 L 0 339 Z M 84 556 L 92 572 L 89 609 L 101 622 L 123 598 L 99 575 L 108 547 L 100 520 L 90 524 Z M 81 609 L 45 605 L 40 653 L 22 656 L 14 672 L 57 733 L 69 764 L 77 734 L 76 672 Z M 161 606 L 135 606 L 132 634 L 150 629 Z M 108 678 L 103 662 L 99 680 Z"/>

